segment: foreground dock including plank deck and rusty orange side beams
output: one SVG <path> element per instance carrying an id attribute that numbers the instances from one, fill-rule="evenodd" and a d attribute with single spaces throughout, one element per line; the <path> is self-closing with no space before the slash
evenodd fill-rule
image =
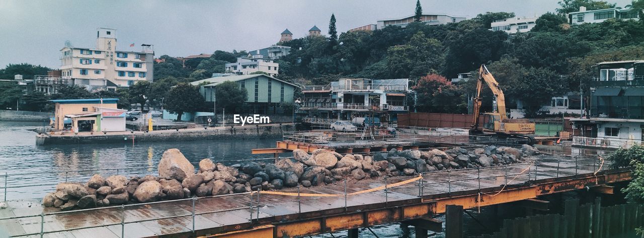
<path id="1" fill-rule="evenodd" d="M 600 169 L 600 165 L 601 169 Z M 334 197 L 231 194 L 48 214 L 37 201 L 9 201 L 0 209 L 0 234 L 23 237 L 294 237 L 377 224 L 415 221 L 464 208 L 534 199 L 630 180 L 627 169 L 609 169 L 596 156 L 542 155 L 530 164 L 426 173 L 399 187 L 343 196 L 415 177 L 349 181 L 302 188 Z M 297 192 L 294 189 L 286 192 Z M 258 206 L 259 204 L 259 206 Z M 41 214 L 47 215 L 41 215 Z M 32 216 L 33 215 L 33 216 Z M 8 217 L 15 217 L 7 219 Z"/>

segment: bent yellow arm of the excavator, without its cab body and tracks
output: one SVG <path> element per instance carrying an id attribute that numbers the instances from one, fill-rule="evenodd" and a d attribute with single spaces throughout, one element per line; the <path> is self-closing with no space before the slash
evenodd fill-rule
<path id="1" fill-rule="evenodd" d="M 492 90 L 492 93 L 497 98 L 497 111 L 499 115 L 499 120 L 503 122 L 506 119 L 506 96 L 503 94 L 503 90 L 498 86 L 497 80 L 489 73 L 488 68 L 485 64 L 481 64 L 478 68 L 478 81 L 477 81 L 477 96 L 474 98 L 474 119 L 472 124 L 472 129 L 478 131 L 478 116 L 480 114 L 481 108 L 481 89 L 483 87 L 483 82 L 488 84 L 489 89 Z"/>

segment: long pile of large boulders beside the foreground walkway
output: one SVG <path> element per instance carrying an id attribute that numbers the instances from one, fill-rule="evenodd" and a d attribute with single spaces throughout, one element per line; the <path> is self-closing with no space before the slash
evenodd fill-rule
<path id="1" fill-rule="evenodd" d="M 524 163 L 539 153 L 529 145 L 523 145 L 521 149 L 489 145 L 471 151 L 458 147 L 446 151 L 392 149 L 374 156 L 342 155 L 324 149 L 308 154 L 296 149 L 294 160 L 279 158 L 275 163 L 226 166 L 204 159 L 195 172 L 194 165 L 178 149 L 169 149 L 158 165 L 158 176 L 128 179 L 120 175 L 103 178 L 95 174 L 87 183 L 60 183 L 56 192 L 43 198 L 43 205 L 71 210 L 251 192 L 260 188 L 310 187 L 344 179 L 411 176 L 436 170 Z"/>

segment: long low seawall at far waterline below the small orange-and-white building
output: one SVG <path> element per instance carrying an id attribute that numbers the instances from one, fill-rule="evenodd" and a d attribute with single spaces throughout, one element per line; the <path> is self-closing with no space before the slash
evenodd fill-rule
<path id="1" fill-rule="evenodd" d="M 264 124 L 233 127 L 203 127 L 193 129 L 126 131 L 113 133 L 38 134 L 36 145 L 91 144 L 91 143 L 141 143 L 189 140 L 226 140 L 279 138 L 285 131 L 294 131 L 294 124 Z"/>

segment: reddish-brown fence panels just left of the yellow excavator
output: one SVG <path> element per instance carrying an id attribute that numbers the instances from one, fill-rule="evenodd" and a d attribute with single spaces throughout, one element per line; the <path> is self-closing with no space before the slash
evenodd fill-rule
<path id="1" fill-rule="evenodd" d="M 488 117 L 478 116 L 480 125 L 488 122 Z M 409 127 L 455 127 L 470 128 L 472 125 L 471 114 L 445 114 L 445 113 L 406 113 L 398 114 L 398 125 Z"/>

